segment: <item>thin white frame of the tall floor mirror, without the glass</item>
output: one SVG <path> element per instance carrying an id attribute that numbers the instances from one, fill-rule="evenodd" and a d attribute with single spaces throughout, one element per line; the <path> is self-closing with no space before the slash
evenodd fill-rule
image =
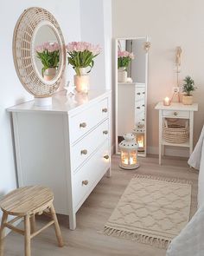
<path id="1" fill-rule="evenodd" d="M 119 40 L 137 40 L 144 39 L 146 42 L 149 42 L 148 36 L 143 37 L 118 37 L 115 38 L 115 153 L 120 154 L 118 150 L 118 41 Z M 145 49 L 144 49 L 145 50 Z M 136 56 L 137 57 L 137 56 Z M 145 55 L 145 132 L 144 132 L 144 153 L 139 154 L 138 156 L 146 157 L 147 155 L 147 88 L 148 88 L 148 50 Z"/>

